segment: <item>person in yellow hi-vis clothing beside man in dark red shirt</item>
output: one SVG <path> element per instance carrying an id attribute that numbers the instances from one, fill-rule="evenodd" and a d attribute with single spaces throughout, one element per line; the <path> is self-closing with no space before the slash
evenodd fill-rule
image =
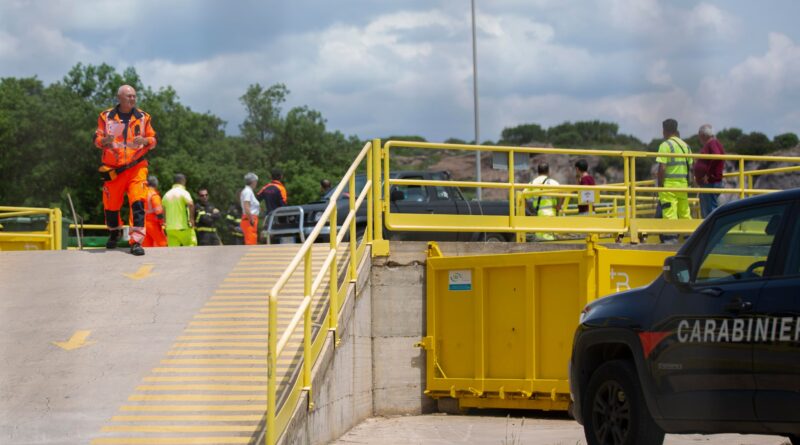
<path id="1" fill-rule="evenodd" d="M 692 149 L 680 138 L 678 121 L 667 119 L 661 127 L 664 133 L 664 142 L 658 146 L 658 153 L 691 154 Z M 659 187 L 689 187 L 691 184 L 692 158 L 666 157 L 656 158 L 658 172 L 656 180 Z M 661 204 L 661 217 L 663 219 L 691 219 L 689 211 L 689 196 L 687 192 L 659 192 L 658 200 Z"/>

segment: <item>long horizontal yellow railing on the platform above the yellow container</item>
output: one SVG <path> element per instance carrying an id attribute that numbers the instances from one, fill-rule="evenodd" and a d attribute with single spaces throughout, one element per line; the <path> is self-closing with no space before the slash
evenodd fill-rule
<path id="1" fill-rule="evenodd" d="M 380 144 L 380 141 L 374 143 Z M 620 158 L 623 165 L 623 183 L 594 186 L 581 185 L 549 185 L 527 184 L 516 182 L 514 175 L 509 175 L 505 182 L 448 181 L 394 179 L 390 177 L 392 150 L 396 149 L 451 150 L 451 151 L 490 151 L 505 153 L 509 159 L 508 171 L 514 171 L 513 160 L 517 153 L 540 154 L 551 156 L 597 156 Z M 618 237 L 629 236 L 631 242 L 637 243 L 648 234 L 682 233 L 689 234 L 699 225 L 699 219 L 664 220 L 653 218 L 656 194 L 658 192 L 718 193 L 736 194 L 740 198 L 750 195 L 770 193 L 777 190 L 753 188 L 753 177 L 766 174 L 790 173 L 800 170 L 800 159 L 786 156 L 743 156 L 743 155 L 701 155 L 701 154 L 660 154 L 640 151 L 606 151 L 561 148 L 505 147 L 465 144 L 436 144 L 428 142 L 389 141 L 381 147 L 383 158 L 383 196 L 390 196 L 392 186 L 441 186 L 463 188 L 504 189 L 508 193 L 508 212 L 504 215 L 441 215 L 441 214 L 409 214 L 393 213 L 385 201 L 380 203 L 383 209 L 385 225 L 390 230 L 402 231 L 453 231 L 453 232 L 552 232 L 552 233 L 611 233 Z M 695 187 L 656 187 L 653 181 L 636 181 L 636 160 L 656 157 L 691 157 L 693 159 L 721 159 L 733 161 L 737 171 L 727 177 L 735 177 L 738 187 L 709 189 Z M 745 170 L 746 162 L 782 162 L 792 164 L 789 167 L 768 168 L 761 170 Z M 526 192 L 526 189 L 528 191 Z M 594 215 L 580 218 L 563 216 L 526 216 L 518 199 L 527 195 L 563 194 L 571 197 L 580 196 L 581 192 L 599 192 L 600 199 L 612 200 L 613 213 L 595 212 Z M 522 195 L 523 197 L 520 197 Z M 644 196 L 642 196 L 644 195 Z M 378 197 L 376 197 L 378 199 Z M 621 205 L 619 202 L 621 201 Z M 633 205 L 636 203 L 636 205 Z M 601 214 L 602 213 L 602 214 Z M 524 237 L 518 237 L 521 240 Z"/>

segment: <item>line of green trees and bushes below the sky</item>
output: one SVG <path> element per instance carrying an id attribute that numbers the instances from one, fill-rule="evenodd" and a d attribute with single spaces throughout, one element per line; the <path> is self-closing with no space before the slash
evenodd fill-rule
<path id="1" fill-rule="evenodd" d="M 144 85 L 133 68 L 118 72 L 106 64 L 77 64 L 49 85 L 36 77 L 0 79 L 0 205 L 60 207 L 69 215 L 66 195 L 70 194 L 85 221 L 101 222 L 100 152 L 92 138 L 98 114 L 116 103 L 122 84 L 137 90 L 138 106 L 153 116 L 159 141 L 149 155 L 150 173 L 159 178 L 162 193 L 175 173 L 184 173 L 190 190 L 207 188 L 211 201 L 222 210 L 238 202 L 246 172 L 258 174 L 263 184 L 273 168 L 285 174 L 290 203 L 313 201 L 319 197 L 319 181 L 338 181 L 364 143 L 329 130 L 322 114 L 308 106 L 284 111 L 290 92 L 283 84 L 250 85 L 240 97 L 246 111 L 240 133 L 228 135 L 220 117 L 182 104 L 171 87 L 156 90 Z M 798 144 L 794 133 L 770 140 L 763 133 L 727 128 L 717 136 L 730 153 L 769 154 Z M 686 140 L 699 150 L 696 135 Z M 499 140 L 483 144 L 656 150 L 660 142 L 644 143 L 621 134 L 612 122 L 578 121 L 549 128 L 536 123 L 507 127 Z M 609 166 L 598 165 L 598 172 Z M 637 171 L 646 172 L 645 168 L 637 166 Z"/>

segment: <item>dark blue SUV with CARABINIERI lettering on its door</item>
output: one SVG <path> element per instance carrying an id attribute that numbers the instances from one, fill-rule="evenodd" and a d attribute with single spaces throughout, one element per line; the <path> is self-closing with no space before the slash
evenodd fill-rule
<path id="1" fill-rule="evenodd" d="M 588 304 L 570 361 L 590 445 L 664 433 L 800 444 L 800 189 L 717 209 L 647 287 Z"/>

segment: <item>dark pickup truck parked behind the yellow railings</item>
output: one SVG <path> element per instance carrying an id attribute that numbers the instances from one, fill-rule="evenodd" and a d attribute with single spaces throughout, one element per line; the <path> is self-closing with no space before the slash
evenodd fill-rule
<path id="1" fill-rule="evenodd" d="M 445 171 L 398 171 L 390 174 L 396 179 L 448 180 L 450 175 Z M 366 177 L 356 176 L 358 193 L 364 188 Z M 346 189 L 345 189 L 346 191 Z M 267 217 L 264 225 L 264 238 L 271 242 L 299 242 L 305 239 L 319 221 L 325 211 L 333 190 L 326 193 L 319 201 L 301 206 L 281 207 Z M 458 187 L 397 185 L 390 190 L 389 205 L 391 212 L 423 213 L 443 215 L 507 215 L 508 201 L 475 201 L 464 197 Z M 341 227 L 350 208 L 349 195 L 342 193 L 337 203 L 338 227 Z M 364 233 L 367 225 L 366 204 L 356 213 L 358 235 Z M 321 233 L 320 241 L 326 241 L 329 227 Z M 401 241 L 512 241 L 513 233 L 484 232 L 413 232 L 390 231 L 384 228 L 384 237 Z"/>

